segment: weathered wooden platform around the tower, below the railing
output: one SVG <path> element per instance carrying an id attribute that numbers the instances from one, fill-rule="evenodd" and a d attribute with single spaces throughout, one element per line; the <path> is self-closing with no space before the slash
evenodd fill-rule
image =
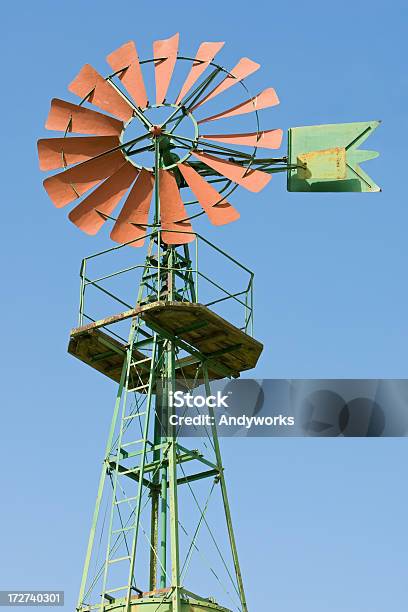
<path id="1" fill-rule="evenodd" d="M 141 317 L 146 325 L 173 340 L 189 356 L 176 362 L 181 376 L 194 379 L 197 363 L 205 359 L 209 378 L 238 377 L 255 367 L 262 344 L 206 306 L 191 302 L 153 302 L 133 310 L 101 319 L 71 331 L 68 352 L 105 376 L 119 382 L 126 345 L 103 331 L 103 328 L 127 318 Z M 134 350 L 134 361 L 146 359 Z M 146 384 L 150 360 L 133 367 L 132 386 Z M 181 373 L 182 370 L 182 373 Z"/>

